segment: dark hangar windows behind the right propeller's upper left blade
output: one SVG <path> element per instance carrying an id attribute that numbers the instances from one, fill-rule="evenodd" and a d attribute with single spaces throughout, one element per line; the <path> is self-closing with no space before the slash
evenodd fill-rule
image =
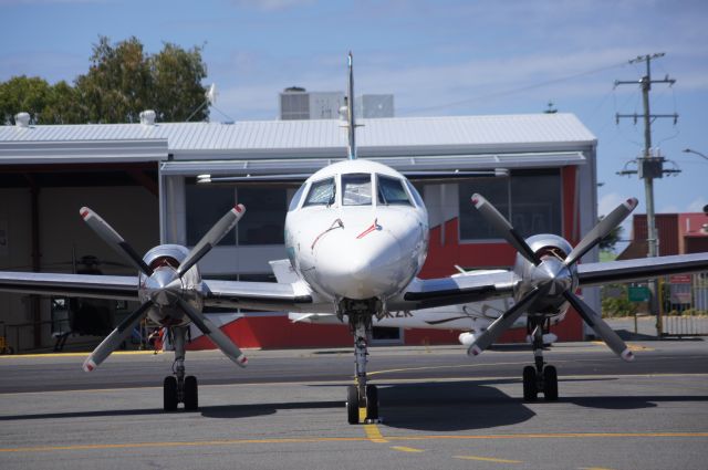
<path id="1" fill-rule="evenodd" d="M 475 192 L 490 201 L 523 238 L 562 234 L 559 169 L 514 171 L 509 178 L 479 178 L 459 185 L 460 240 L 496 240 L 499 234 L 470 201 Z"/>

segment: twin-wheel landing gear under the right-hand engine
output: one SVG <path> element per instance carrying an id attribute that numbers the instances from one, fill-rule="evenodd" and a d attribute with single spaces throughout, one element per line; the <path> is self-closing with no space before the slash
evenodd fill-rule
<path id="1" fill-rule="evenodd" d="M 546 401 L 558 400 L 558 372 L 555 367 L 543 361 L 543 318 L 529 318 L 529 331 L 533 342 L 535 367 L 523 368 L 523 399 L 535 401 L 539 393 L 543 393 Z"/>

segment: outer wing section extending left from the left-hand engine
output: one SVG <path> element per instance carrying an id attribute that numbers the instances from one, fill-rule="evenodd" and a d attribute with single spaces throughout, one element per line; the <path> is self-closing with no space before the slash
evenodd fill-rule
<path id="1" fill-rule="evenodd" d="M 0 291 L 137 301 L 137 276 L 0 271 Z"/>

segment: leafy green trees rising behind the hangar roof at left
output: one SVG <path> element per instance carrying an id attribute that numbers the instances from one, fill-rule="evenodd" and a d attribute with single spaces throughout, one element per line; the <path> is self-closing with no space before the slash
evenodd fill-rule
<path id="1" fill-rule="evenodd" d="M 73 86 L 27 76 L 0 83 L 0 121 L 13 124 L 15 114 L 28 112 L 32 124 L 135 123 L 145 109 L 155 109 L 159 121 L 185 121 L 205 101 L 206 76 L 201 48 L 166 43 L 150 55 L 137 38 L 112 44 L 100 36 L 88 72 Z M 208 117 L 205 106 L 194 119 Z"/>

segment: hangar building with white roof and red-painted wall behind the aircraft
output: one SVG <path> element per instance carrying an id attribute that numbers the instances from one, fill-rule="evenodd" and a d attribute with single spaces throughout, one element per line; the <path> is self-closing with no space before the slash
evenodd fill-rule
<path id="1" fill-rule="evenodd" d="M 155 123 L 144 113 L 136 124 L 33 126 L 18 121 L 15 126 L 0 126 L 2 270 L 134 274 L 84 227 L 82 206 L 96 210 L 145 252 L 159 242 L 196 243 L 238 200 L 247 206 L 247 216 L 200 262 L 202 274 L 272 280 L 268 261 L 285 258 L 283 221 L 299 186 L 279 177 L 294 174 L 304 179 L 346 156 L 346 132 L 337 119 Z M 430 217 L 424 278 L 452 274 L 455 265 L 513 263 L 513 249 L 472 209 L 473 192 L 490 199 L 522 236 L 552 232 L 576 243 L 596 220 L 597 140 L 572 114 L 369 118 L 361 124 L 361 158 L 410 175 L 448 174 L 413 179 Z M 202 174 L 264 178 L 236 186 L 197 184 Z M 593 251 L 585 261 L 596 255 Z M 595 290 L 584 295 L 598 307 Z M 8 328 L 8 342 L 21 349 L 51 345 L 52 333 L 66 330 L 58 326 L 65 306 L 62 300 L 0 294 L 0 322 L 20 325 Z M 111 303 L 96 309 L 106 323 L 115 323 L 132 307 Z M 92 316 L 91 309 L 84 316 Z M 101 330 L 80 326 L 74 330 Z M 576 315 L 568 315 L 558 328 L 561 340 L 583 335 Z M 345 327 L 293 325 L 287 313 L 250 312 L 225 330 L 246 347 L 351 343 Z M 385 336 L 394 343 L 419 344 L 455 342 L 457 333 L 405 331 Z"/>

